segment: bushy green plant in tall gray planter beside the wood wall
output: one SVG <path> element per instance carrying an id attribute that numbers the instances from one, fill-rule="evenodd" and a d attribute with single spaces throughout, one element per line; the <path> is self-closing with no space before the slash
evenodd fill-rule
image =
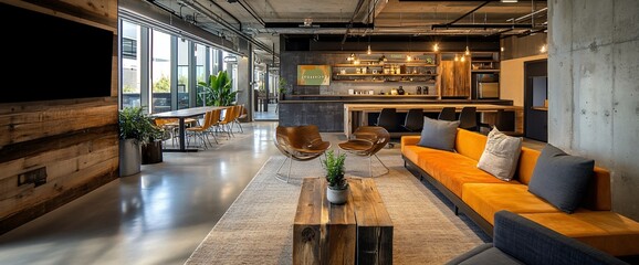
<path id="1" fill-rule="evenodd" d="M 142 145 L 161 139 L 164 131 L 142 107 L 125 107 L 118 114 L 119 174 L 138 173 L 142 166 Z"/>

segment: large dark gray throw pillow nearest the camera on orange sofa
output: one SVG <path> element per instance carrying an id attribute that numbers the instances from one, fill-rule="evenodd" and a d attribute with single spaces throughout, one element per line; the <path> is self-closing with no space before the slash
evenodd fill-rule
<path id="1" fill-rule="evenodd" d="M 528 191 L 573 213 L 587 192 L 594 169 L 595 160 L 570 156 L 547 144 L 533 170 Z"/>

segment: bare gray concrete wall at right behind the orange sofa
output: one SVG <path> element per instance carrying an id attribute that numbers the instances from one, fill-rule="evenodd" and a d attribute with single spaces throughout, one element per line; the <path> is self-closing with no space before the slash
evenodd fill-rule
<path id="1" fill-rule="evenodd" d="M 609 169 L 612 209 L 639 221 L 639 1 L 548 8 L 548 142 Z"/>

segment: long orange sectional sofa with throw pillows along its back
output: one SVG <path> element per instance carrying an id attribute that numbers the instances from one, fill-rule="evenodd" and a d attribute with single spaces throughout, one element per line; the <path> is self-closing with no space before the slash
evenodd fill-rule
<path id="1" fill-rule="evenodd" d="M 455 152 L 417 146 L 420 136 L 401 137 L 405 166 L 428 180 L 453 204 L 492 235 L 494 213 L 507 210 L 615 256 L 639 255 L 639 223 L 611 211 L 610 173 L 595 167 L 582 206 L 568 214 L 528 192 L 541 151 L 522 147 L 517 170 L 502 181 L 476 167 L 488 137 L 458 129 Z"/>

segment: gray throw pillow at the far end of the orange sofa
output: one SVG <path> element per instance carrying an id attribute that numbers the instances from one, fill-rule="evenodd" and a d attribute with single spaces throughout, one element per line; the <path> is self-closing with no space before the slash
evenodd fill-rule
<path id="1" fill-rule="evenodd" d="M 423 128 L 418 146 L 436 148 L 447 151 L 454 150 L 454 137 L 457 136 L 459 120 L 448 121 L 423 117 Z"/>

